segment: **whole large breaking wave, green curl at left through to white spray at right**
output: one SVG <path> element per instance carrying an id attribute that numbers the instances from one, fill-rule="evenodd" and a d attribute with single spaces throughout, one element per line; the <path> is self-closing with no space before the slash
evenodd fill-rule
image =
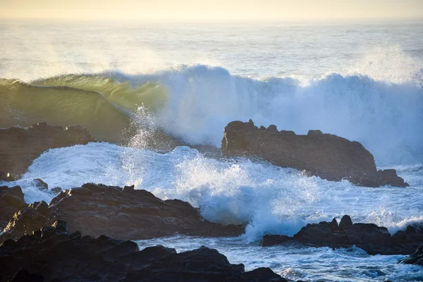
<path id="1" fill-rule="evenodd" d="M 220 67 L 183 65 L 142 75 L 0 80 L 0 126 L 80 124 L 114 141 L 134 120 L 147 119 L 183 142 L 219 147 L 229 121 L 252 118 L 299 134 L 320 129 L 362 142 L 380 164 L 412 164 L 423 160 L 423 90 L 421 75 L 415 78 L 391 82 L 331 73 L 305 82 L 255 80 Z"/>

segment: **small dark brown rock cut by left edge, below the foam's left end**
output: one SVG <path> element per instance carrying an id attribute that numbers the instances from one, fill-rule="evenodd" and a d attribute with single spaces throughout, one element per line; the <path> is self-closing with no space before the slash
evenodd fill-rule
<path id="1" fill-rule="evenodd" d="M 0 231 L 6 227 L 13 214 L 27 207 L 23 200 L 23 192 L 19 186 L 8 188 L 0 186 Z"/>

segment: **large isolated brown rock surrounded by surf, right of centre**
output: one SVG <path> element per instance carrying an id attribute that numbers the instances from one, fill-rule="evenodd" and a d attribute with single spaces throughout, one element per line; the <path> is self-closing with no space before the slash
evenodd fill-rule
<path id="1" fill-rule="evenodd" d="M 275 125 L 257 128 L 251 120 L 233 121 L 225 128 L 221 150 L 225 156 L 257 156 L 331 181 L 347 179 L 367 187 L 408 186 L 393 169 L 376 171 L 373 155 L 359 142 L 320 130 L 295 135 L 293 131 L 278 131 Z"/>

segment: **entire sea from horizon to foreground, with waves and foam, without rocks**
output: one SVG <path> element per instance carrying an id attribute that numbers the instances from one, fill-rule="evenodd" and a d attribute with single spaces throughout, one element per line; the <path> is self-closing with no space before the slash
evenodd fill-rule
<path id="1" fill-rule="evenodd" d="M 176 236 L 140 247 L 207 245 L 246 269 L 269 266 L 293 280 L 423 281 L 421 267 L 396 264 L 403 256 L 258 246 L 264 233 L 293 235 L 343 214 L 391 233 L 423 222 L 422 23 L 1 23 L 0 32 L 0 128 L 80 124 L 110 141 L 50 149 L 22 179 L 0 183 L 20 185 L 26 202 L 54 197 L 35 178 L 63 189 L 135 185 L 188 201 L 210 221 L 247 224 L 240 238 Z M 396 168 L 410 187 L 357 187 L 221 157 L 225 125 L 250 118 L 361 142 L 378 168 Z"/>

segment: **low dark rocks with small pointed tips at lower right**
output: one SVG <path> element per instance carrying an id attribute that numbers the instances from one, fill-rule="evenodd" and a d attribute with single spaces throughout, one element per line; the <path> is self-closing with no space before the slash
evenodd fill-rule
<path id="1" fill-rule="evenodd" d="M 408 226 L 406 231 L 394 235 L 385 227 L 372 223 L 353 223 L 350 216 L 343 216 L 338 225 L 336 219 L 307 224 L 293 237 L 264 235 L 263 247 L 284 244 L 309 244 L 317 247 L 360 247 L 369 255 L 410 255 L 423 243 L 423 233 Z"/>

